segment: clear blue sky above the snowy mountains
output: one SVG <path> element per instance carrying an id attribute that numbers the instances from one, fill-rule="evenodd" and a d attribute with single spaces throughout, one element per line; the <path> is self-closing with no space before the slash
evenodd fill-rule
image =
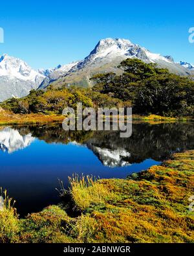
<path id="1" fill-rule="evenodd" d="M 194 43 L 188 41 L 194 1 L 1 1 L 0 8 L 0 55 L 36 69 L 80 60 L 110 37 L 194 63 Z"/>

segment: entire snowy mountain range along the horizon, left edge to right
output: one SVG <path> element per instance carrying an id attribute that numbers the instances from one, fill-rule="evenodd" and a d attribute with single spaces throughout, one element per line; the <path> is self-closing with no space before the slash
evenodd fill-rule
<path id="1" fill-rule="evenodd" d="M 187 62 L 175 63 L 171 56 L 152 53 L 129 40 L 107 38 L 100 40 L 84 60 L 46 70 L 35 71 L 23 60 L 4 54 L 0 57 L 0 102 L 24 97 L 31 89 L 45 89 L 51 83 L 56 87 L 64 83 L 92 86 L 90 78 L 96 73 L 122 73 L 118 65 L 127 58 L 155 63 L 178 75 L 194 74 L 194 66 Z"/>

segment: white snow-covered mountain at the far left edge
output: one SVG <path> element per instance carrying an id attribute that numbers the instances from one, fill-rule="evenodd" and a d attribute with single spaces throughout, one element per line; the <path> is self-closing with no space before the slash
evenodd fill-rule
<path id="1" fill-rule="evenodd" d="M 0 102 L 28 95 L 38 89 L 45 75 L 32 69 L 23 60 L 4 54 L 0 57 Z"/>

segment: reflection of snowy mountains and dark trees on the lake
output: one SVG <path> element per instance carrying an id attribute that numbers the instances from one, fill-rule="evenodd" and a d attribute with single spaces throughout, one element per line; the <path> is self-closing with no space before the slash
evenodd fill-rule
<path id="1" fill-rule="evenodd" d="M 140 163 L 145 159 L 162 161 L 172 152 L 191 149 L 194 124 L 133 124 L 133 135 L 120 138 L 119 132 L 66 132 L 60 124 L 6 127 L 0 130 L 0 150 L 12 153 L 35 140 L 46 143 L 85 145 L 103 165 L 109 167 Z"/>

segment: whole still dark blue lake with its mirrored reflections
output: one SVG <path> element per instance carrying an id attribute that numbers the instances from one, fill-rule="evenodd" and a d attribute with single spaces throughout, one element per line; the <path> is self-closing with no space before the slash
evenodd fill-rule
<path id="1" fill-rule="evenodd" d="M 75 173 L 126 178 L 192 148 L 192 122 L 136 123 L 127 139 L 113 131 L 65 132 L 61 124 L 0 126 L 0 187 L 24 216 L 59 203 L 58 179 L 68 187 Z"/>

